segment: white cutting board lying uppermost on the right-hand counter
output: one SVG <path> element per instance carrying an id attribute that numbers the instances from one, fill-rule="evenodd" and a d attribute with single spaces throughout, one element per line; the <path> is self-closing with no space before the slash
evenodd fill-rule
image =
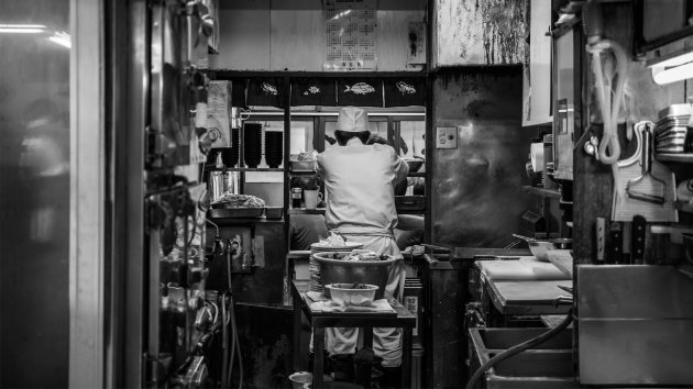
<path id="1" fill-rule="evenodd" d="M 540 262 L 532 256 L 516 260 L 482 260 L 482 274 L 490 280 L 569 280 L 571 279 L 556 265 Z"/>

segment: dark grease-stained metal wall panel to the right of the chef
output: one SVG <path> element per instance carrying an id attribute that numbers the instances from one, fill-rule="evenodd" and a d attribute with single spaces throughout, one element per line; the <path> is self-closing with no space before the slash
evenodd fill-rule
<path id="1" fill-rule="evenodd" d="M 504 247 L 536 199 L 520 191 L 536 131 L 521 127 L 521 66 L 446 69 L 433 79 L 433 133 L 460 126 L 458 147 L 432 163 L 431 241 Z"/>

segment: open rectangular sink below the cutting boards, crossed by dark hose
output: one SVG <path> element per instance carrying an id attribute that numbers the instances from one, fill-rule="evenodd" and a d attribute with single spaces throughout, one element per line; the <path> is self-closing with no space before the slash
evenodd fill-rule
<path id="1" fill-rule="evenodd" d="M 471 329 L 472 369 L 495 355 L 538 336 L 549 329 Z M 573 377 L 572 330 L 514 355 L 488 369 L 487 389 L 579 388 Z"/>

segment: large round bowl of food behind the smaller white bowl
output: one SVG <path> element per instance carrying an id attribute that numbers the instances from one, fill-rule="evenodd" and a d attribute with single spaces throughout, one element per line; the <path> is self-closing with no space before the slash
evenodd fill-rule
<path id="1" fill-rule="evenodd" d="M 312 258 L 320 267 L 320 278 L 323 293 L 330 296 L 330 290 L 326 286 L 330 284 L 370 284 L 377 286 L 375 300 L 385 296 L 387 275 L 389 267 L 395 263 L 395 258 L 385 260 L 343 260 L 351 252 L 336 253 L 314 253 Z"/>

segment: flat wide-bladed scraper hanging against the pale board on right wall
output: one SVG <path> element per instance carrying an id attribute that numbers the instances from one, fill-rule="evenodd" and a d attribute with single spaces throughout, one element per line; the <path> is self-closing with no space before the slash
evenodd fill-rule
<path id="1" fill-rule="evenodd" d="M 626 185 L 626 193 L 631 199 L 637 199 L 656 204 L 667 202 L 667 182 L 651 174 L 652 162 L 652 134 L 648 125 L 642 130 L 642 174 L 631 179 Z"/>

